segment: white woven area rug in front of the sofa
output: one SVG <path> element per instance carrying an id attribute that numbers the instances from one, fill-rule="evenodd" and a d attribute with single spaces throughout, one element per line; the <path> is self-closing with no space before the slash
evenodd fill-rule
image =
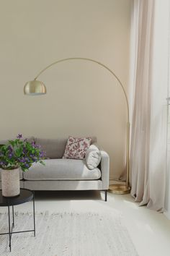
<path id="1" fill-rule="evenodd" d="M 122 217 L 112 213 L 36 213 L 36 236 L 32 233 L 0 236 L 0 255 L 6 256 L 136 256 Z M 0 213 L 0 233 L 8 218 Z M 30 213 L 15 214 L 14 231 L 32 229 Z"/>

